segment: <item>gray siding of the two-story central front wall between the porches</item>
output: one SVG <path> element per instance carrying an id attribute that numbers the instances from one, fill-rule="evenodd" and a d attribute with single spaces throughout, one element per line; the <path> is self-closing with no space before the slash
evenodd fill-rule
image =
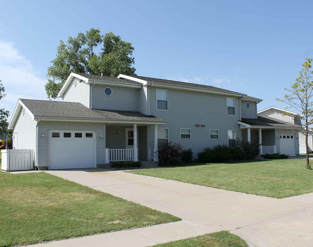
<path id="1" fill-rule="evenodd" d="M 150 114 L 167 121 L 158 128 L 168 128 L 169 141 L 180 143 L 184 149 L 191 148 L 194 156 L 205 147 L 228 144 L 227 130 L 235 130 L 241 139 L 239 120 L 239 98 L 235 98 L 235 116 L 227 115 L 226 96 L 178 89 L 168 89 L 168 111 L 156 110 L 156 88 L 150 88 Z M 196 124 L 205 127 L 195 127 Z M 153 135 L 149 127 L 149 146 Z M 191 139 L 180 139 L 180 128 L 191 129 Z M 219 139 L 209 139 L 209 129 L 218 129 Z"/>

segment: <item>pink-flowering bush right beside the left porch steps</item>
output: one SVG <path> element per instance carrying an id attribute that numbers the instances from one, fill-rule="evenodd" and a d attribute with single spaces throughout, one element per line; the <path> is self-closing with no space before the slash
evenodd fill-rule
<path id="1" fill-rule="evenodd" d="M 159 164 L 176 165 L 182 156 L 182 145 L 179 143 L 165 142 L 158 145 Z"/>

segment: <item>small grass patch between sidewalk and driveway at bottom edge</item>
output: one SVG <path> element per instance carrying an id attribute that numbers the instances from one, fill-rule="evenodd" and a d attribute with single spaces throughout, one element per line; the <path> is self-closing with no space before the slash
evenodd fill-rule
<path id="1" fill-rule="evenodd" d="M 156 244 L 153 247 L 248 247 L 246 241 L 228 231 L 204 234 L 194 238 Z"/>

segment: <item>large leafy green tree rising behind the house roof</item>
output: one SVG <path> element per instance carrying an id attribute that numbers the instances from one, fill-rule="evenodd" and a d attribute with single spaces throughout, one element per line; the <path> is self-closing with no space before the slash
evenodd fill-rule
<path id="1" fill-rule="evenodd" d="M 96 53 L 95 48 L 101 46 Z M 134 48 L 130 42 L 121 40 L 120 36 L 109 32 L 100 34 L 100 30 L 90 28 L 86 33 L 78 33 L 77 37 L 69 37 L 65 44 L 60 40 L 56 58 L 51 61 L 46 75 L 45 85 L 49 98 L 56 98 L 64 82 L 71 72 L 100 74 L 116 77 L 120 73 L 135 75 L 132 67 L 135 58 Z"/>

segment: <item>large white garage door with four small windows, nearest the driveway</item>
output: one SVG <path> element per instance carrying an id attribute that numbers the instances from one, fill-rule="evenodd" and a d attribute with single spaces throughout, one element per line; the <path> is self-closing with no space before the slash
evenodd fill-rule
<path id="1" fill-rule="evenodd" d="M 95 167 L 95 131 L 49 131 L 49 169 Z"/>

